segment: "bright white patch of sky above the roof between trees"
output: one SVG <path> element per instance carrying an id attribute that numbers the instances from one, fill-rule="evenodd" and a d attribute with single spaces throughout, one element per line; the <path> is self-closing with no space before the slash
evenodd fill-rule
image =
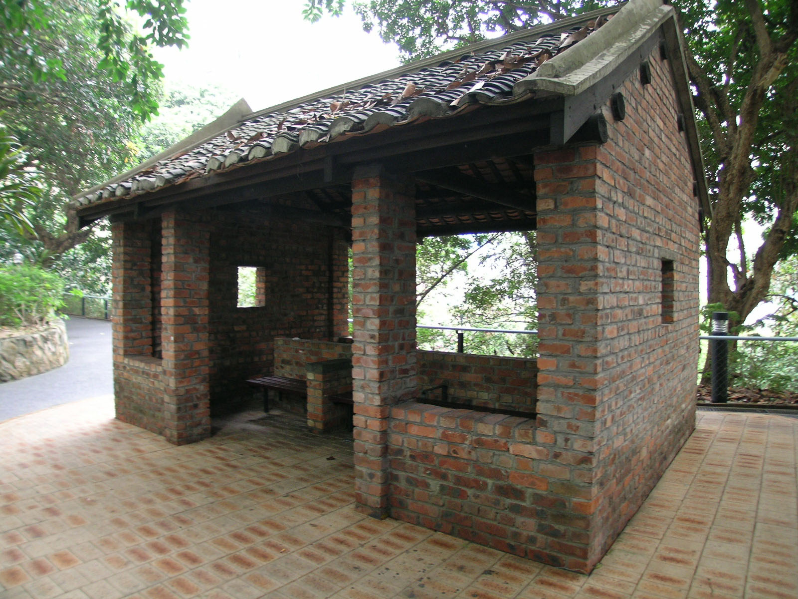
<path id="1" fill-rule="evenodd" d="M 253 110 L 398 66 L 396 46 L 366 34 L 354 12 L 302 18 L 304 0 L 190 0 L 184 50 L 156 49 L 173 83 L 219 84 Z"/>

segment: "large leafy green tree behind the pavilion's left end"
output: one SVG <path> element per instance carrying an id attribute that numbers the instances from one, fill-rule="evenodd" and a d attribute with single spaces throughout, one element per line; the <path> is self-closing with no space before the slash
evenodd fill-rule
<path id="1" fill-rule="evenodd" d="M 109 252 L 107 223 L 78 228 L 70 199 L 135 164 L 131 141 L 161 93 L 160 65 L 144 42 L 183 43 L 180 2 L 130 4 L 152 9 L 148 35 L 135 34 L 103 0 L 0 9 L 0 118 L 25 145 L 27 168 L 41 173 L 41 197 L 28 210 L 33 231 L 0 226 L 0 253 L 20 251 L 89 292 L 107 288 L 108 273 L 95 272 Z"/>

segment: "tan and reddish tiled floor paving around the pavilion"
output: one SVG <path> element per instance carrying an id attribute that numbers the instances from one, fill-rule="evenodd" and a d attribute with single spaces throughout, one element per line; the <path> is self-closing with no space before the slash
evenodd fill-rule
<path id="1" fill-rule="evenodd" d="M 798 419 L 699 414 L 591 576 L 352 507 L 347 435 L 192 446 L 89 400 L 0 423 L 0 597 L 798 597 Z"/>

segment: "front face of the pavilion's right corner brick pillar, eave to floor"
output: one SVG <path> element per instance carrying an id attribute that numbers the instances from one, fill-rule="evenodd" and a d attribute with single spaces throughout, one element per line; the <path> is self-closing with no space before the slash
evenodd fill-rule
<path id="1" fill-rule="evenodd" d="M 601 375 L 599 319 L 609 296 L 600 276 L 599 228 L 606 216 L 596 196 L 595 146 L 535 155 L 538 211 L 538 403 L 535 445 L 547 459 L 535 474 L 547 478 L 548 501 L 569 517 L 541 506 L 545 548 L 532 557 L 590 571 L 600 555 L 591 547 L 595 510 L 595 407 L 606 392 Z M 601 222 L 599 222 L 601 221 Z M 606 258 L 605 258 L 606 259 Z M 549 513 L 551 511 L 551 513 Z"/>

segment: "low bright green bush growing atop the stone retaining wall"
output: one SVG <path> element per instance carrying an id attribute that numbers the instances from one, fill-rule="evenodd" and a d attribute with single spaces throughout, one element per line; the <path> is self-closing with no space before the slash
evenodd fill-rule
<path id="1" fill-rule="evenodd" d="M 41 326 L 63 305 L 64 282 L 43 268 L 0 268 L 0 327 Z"/>

